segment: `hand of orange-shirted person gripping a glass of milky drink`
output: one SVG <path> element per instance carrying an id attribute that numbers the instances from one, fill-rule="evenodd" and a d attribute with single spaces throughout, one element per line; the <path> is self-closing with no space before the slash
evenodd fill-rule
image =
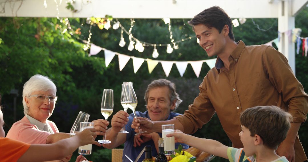
<path id="1" fill-rule="evenodd" d="M 88 145 L 88 144 L 94 144 L 97 146 L 101 146 L 100 143 L 98 143 L 97 141 L 95 141 L 95 134 L 96 130 L 95 128 L 87 128 L 84 129 L 82 132 L 76 133 L 76 137 L 79 138 L 81 145 L 80 146 L 84 146 L 84 145 Z"/>

